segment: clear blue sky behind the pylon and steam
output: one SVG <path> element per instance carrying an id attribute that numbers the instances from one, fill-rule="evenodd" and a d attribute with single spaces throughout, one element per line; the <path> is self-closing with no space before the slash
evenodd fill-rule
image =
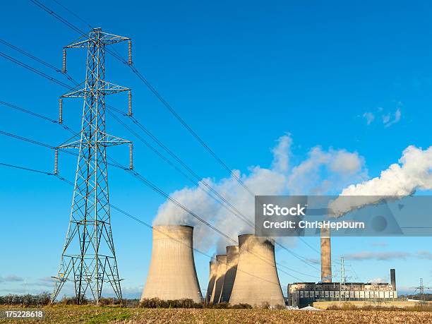
<path id="1" fill-rule="evenodd" d="M 82 29 L 82 21 L 52 0 L 49 7 Z M 431 145 L 432 4 L 429 1 L 64 1 L 72 11 L 107 32 L 133 38 L 133 61 L 189 125 L 233 169 L 269 167 L 271 148 L 290 133 L 292 164 L 307 159 L 317 145 L 327 152 L 347 150 L 364 159 L 368 177 L 397 162 L 404 148 Z M 1 38 L 56 66 L 61 49 L 79 36 L 30 1 L 2 4 Z M 0 44 L 1 52 L 50 71 Z M 116 45 L 126 56 L 126 44 Z M 68 52 L 68 71 L 82 80 L 85 52 Z M 56 119 L 59 85 L 0 58 L 0 100 Z M 66 81 L 65 78 L 62 80 Z M 134 114 L 197 174 L 218 181 L 227 176 L 212 157 L 123 64 L 107 58 L 107 80 L 133 89 Z M 127 109 L 127 96 L 109 97 Z M 79 128 L 82 102 L 65 100 L 64 120 Z M 0 107 L 0 129 L 58 145 L 69 134 L 55 124 Z M 371 121 L 371 116 L 373 120 Z M 368 121 L 370 123 L 368 124 Z M 107 130 L 133 136 L 114 120 Z M 54 154 L 2 136 L 1 162 L 51 171 Z M 135 140 L 140 173 L 170 193 L 189 185 L 183 176 Z M 112 148 L 128 164 L 126 147 Z M 73 179 L 74 157 L 61 155 L 60 171 Z M 0 293 L 51 290 L 46 277 L 56 274 L 64 243 L 72 192 L 48 176 L 0 169 Z M 151 223 L 164 199 L 118 169 L 109 169 L 114 205 Z M 342 188 L 333 188 L 334 191 Z M 114 242 L 126 294 L 136 296 L 145 282 L 151 232 L 112 212 Z M 306 239 L 318 248 L 318 239 Z M 431 260 L 419 256 L 430 238 L 332 241 L 333 258 L 363 253 L 347 263 L 359 280 L 388 278 L 396 268 L 400 288 L 410 291 L 432 280 Z M 318 258 L 304 244 L 293 247 Z M 209 251 L 213 253 L 212 250 Z M 383 260 L 376 260 L 383 259 Z M 361 259 L 361 260 L 358 260 Z M 318 271 L 283 251 L 277 260 L 300 272 Z M 207 286 L 208 259 L 196 255 L 201 288 Z M 316 265 L 318 268 L 318 265 Z M 309 271 L 310 270 L 310 271 Z M 303 280 L 311 277 L 296 274 Z M 354 278 L 353 272 L 353 280 Z M 280 273 L 283 284 L 294 280 Z M 49 284 L 49 283 L 48 283 Z M 284 289 L 285 292 L 286 289 Z"/>

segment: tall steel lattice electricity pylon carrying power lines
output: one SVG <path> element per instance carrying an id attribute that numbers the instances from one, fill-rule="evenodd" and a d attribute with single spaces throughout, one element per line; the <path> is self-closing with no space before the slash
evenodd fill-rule
<path id="1" fill-rule="evenodd" d="M 130 169 L 132 169 L 132 144 L 128 140 L 105 133 L 105 95 L 131 90 L 104 80 L 105 47 L 118 42 L 129 42 L 131 64 L 131 40 L 126 37 L 92 29 L 88 36 L 64 47 L 63 71 L 66 73 L 66 49 L 87 48 L 84 88 L 71 90 L 60 97 L 59 123 L 63 121 L 63 98 L 83 97 L 83 119 L 78 140 L 59 145 L 58 149 L 78 148 L 78 166 L 66 241 L 61 252 L 58 275 L 55 278 L 52 302 L 64 287 L 73 282 L 78 304 L 91 292 L 98 304 L 104 283 L 109 283 L 114 294 L 122 300 L 119 270 L 117 268 L 114 241 L 109 212 L 107 152 L 113 145 L 130 145 Z M 55 152 L 54 174 L 58 173 L 58 150 Z"/>

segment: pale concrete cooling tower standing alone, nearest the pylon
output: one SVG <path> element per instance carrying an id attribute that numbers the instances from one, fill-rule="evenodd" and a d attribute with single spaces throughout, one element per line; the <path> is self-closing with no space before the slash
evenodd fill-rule
<path id="1" fill-rule="evenodd" d="M 193 227 L 153 227 L 153 247 L 147 282 L 141 299 L 193 299 L 201 301 L 193 261 Z"/>

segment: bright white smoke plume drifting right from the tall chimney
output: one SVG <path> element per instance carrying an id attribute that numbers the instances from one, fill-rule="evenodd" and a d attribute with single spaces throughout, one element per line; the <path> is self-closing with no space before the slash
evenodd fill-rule
<path id="1" fill-rule="evenodd" d="M 355 198 L 337 198 L 329 208 L 335 216 L 342 216 L 356 208 L 380 203 L 385 198 L 412 195 L 418 189 L 432 189 L 432 146 L 422 150 L 410 145 L 402 152 L 399 161 L 391 164 L 380 176 L 348 186 L 340 193 L 340 196 Z"/>

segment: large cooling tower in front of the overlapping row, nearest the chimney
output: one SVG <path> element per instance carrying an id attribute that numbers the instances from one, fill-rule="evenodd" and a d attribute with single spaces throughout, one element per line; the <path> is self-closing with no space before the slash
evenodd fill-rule
<path id="1" fill-rule="evenodd" d="M 253 234 L 239 235 L 239 264 L 229 304 L 284 305 L 277 277 L 274 241 Z"/>

